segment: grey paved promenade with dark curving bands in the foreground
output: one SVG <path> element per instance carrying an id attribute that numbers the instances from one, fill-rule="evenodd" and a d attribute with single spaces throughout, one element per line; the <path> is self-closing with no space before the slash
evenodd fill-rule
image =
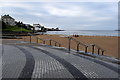
<path id="1" fill-rule="evenodd" d="M 3 42 L 2 78 L 115 78 L 119 66 L 49 46 Z M 10 42 L 10 43 L 11 43 Z"/>

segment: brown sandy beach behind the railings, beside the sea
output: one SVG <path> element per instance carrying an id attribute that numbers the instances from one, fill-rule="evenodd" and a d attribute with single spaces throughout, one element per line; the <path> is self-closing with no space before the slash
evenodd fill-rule
<path id="1" fill-rule="evenodd" d="M 66 38 L 64 35 L 38 35 L 37 37 L 42 39 L 53 39 L 61 44 L 61 47 L 68 48 L 68 38 Z M 29 38 L 29 37 L 28 37 Z M 118 39 L 120 37 L 115 36 L 79 36 L 79 37 L 73 37 L 76 40 L 84 43 L 84 44 L 96 44 L 102 49 L 105 50 L 104 55 L 105 56 L 111 56 L 115 58 L 120 58 L 120 54 L 118 53 Z M 26 39 L 27 41 L 29 39 Z M 32 37 L 32 42 L 37 42 L 37 39 Z M 43 43 L 43 41 L 39 40 L 39 43 Z M 50 41 L 46 41 L 46 44 L 50 45 Z M 54 42 L 52 42 L 52 45 L 55 45 Z M 71 40 L 71 48 L 77 49 L 76 42 Z M 92 47 L 88 47 L 88 52 L 92 52 Z M 79 50 L 85 51 L 84 46 L 80 46 Z M 98 50 L 95 49 L 95 53 L 98 53 Z M 101 52 L 100 52 L 101 54 Z"/>

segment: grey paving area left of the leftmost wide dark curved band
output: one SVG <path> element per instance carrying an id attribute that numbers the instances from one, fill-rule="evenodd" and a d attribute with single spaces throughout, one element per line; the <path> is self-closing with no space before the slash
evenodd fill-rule
<path id="1" fill-rule="evenodd" d="M 25 55 L 16 47 L 4 45 L 2 77 L 18 78 L 26 63 Z"/>

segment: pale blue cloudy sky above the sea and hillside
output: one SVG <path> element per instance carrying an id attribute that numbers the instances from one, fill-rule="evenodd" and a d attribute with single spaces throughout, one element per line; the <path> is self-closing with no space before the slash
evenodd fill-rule
<path id="1" fill-rule="evenodd" d="M 118 2 L 1 2 L 0 14 L 64 30 L 118 29 Z"/>

